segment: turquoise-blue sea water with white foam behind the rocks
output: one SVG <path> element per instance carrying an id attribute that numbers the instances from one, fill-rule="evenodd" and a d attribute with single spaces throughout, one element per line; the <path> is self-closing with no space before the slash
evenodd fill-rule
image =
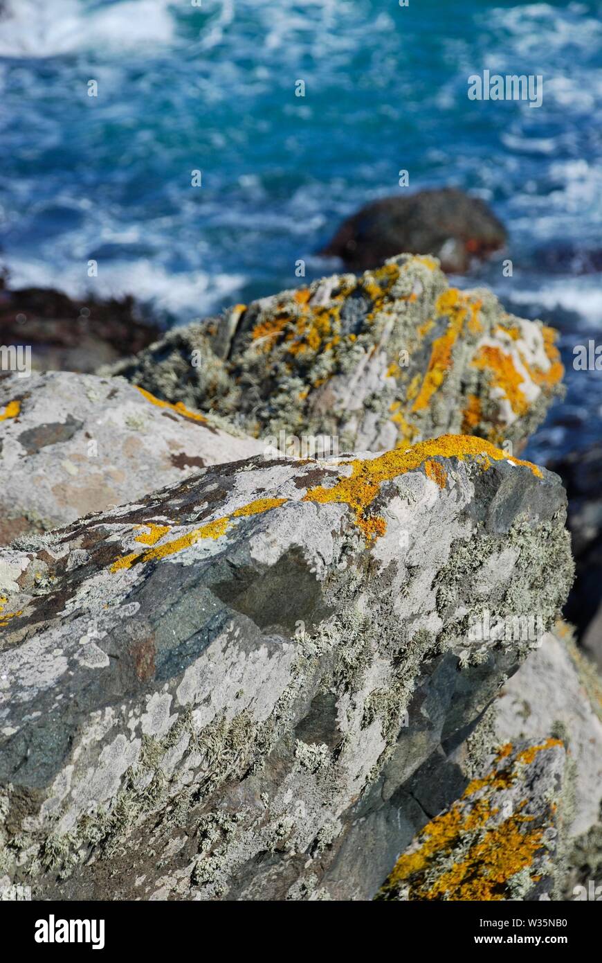
<path id="1" fill-rule="evenodd" d="M 310 278 L 336 269 L 315 250 L 408 169 L 411 188 L 464 187 L 508 227 L 514 276 L 489 265 L 478 283 L 559 325 L 569 363 L 595 337 L 599 275 L 542 273 L 534 251 L 602 247 L 600 4 L 8 4 L 0 257 L 14 286 L 131 293 L 187 322 L 295 285 L 299 258 Z M 541 74 L 541 107 L 469 101 L 484 68 Z M 571 417 L 580 443 L 599 432 L 600 373 L 569 382 L 534 455 L 574 443 Z"/>

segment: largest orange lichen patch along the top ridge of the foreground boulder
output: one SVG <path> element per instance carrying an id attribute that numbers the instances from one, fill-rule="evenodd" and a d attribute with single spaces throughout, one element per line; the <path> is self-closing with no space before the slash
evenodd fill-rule
<path id="1" fill-rule="evenodd" d="M 486 455 L 491 461 L 510 461 L 514 465 L 529 468 L 534 475 L 541 478 L 541 471 L 530 461 L 514 458 L 495 448 L 483 438 L 470 435 L 444 434 L 431 441 L 421 441 L 412 448 L 394 449 L 376 458 L 358 458 L 354 461 L 343 461 L 341 465 L 351 466 L 351 473 L 339 476 L 339 480 L 331 487 L 318 485 L 311 488 L 304 496 L 307 502 L 344 502 L 355 513 L 355 521 L 362 529 L 366 538 L 374 536 L 374 521 L 368 509 L 380 491 L 383 481 L 390 481 L 398 475 L 415 471 L 424 462 L 435 456 L 443 458 L 458 458 L 461 461 L 467 456 L 478 457 Z M 384 523 L 384 519 L 381 519 Z M 379 523 L 379 528 L 384 530 Z M 378 534 L 382 534 L 378 533 Z"/>

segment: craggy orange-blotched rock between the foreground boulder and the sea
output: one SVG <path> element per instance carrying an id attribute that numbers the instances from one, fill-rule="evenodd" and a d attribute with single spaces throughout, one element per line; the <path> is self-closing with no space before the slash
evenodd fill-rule
<path id="1" fill-rule="evenodd" d="M 333 439 L 383 451 L 446 431 L 520 445 L 561 390 L 554 339 L 401 255 L 172 330 L 112 371 L 255 436 L 325 436 L 327 454 Z"/>

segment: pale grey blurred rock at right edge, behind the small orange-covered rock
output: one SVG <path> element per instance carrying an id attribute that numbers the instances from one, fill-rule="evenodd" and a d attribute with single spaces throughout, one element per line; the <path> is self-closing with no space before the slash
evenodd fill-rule
<path id="1" fill-rule="evenodd" d="M 565 807 L 565 898 L 602 869 L 602 681 L 564 622 L 508 680 L 494 704 L 499 740 L 554 732 L 568 749 L 571 791 Z"/>

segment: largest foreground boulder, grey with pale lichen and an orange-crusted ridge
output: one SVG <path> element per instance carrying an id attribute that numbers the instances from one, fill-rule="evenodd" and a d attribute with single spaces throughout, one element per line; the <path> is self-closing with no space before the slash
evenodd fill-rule
<path id="1" fill-rule="evenodd" d="M 213 466 L 2 549 L 3 872 L 35 898 L 372 898 L 532 647 L 467 626 L 563 604 L 564 510 L 556 476 L 446 436 Z"/>

